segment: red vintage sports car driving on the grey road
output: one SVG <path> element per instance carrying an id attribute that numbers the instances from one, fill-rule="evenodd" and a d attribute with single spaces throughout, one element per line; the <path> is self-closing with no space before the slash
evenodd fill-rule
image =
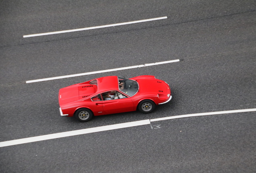
<path id="1" fill-rule="evenodd" d="M 155 76 L 106 76 L 60 89 L 60 115 L 86 122 L 93 116 L 136 111 L 151 113 L 171 100 L 169 85 Z"/>

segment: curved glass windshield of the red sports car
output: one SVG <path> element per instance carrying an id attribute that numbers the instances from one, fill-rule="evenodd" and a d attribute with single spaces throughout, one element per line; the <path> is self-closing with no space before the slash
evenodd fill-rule
<path id="1" fill-rule="evenodd" d="M 136 80 L 130 80 L 118 76 L 119 89 L 123 93 L 126 93 L 128 96 L 132 97 L 138 92 L 138 82 Z"/>

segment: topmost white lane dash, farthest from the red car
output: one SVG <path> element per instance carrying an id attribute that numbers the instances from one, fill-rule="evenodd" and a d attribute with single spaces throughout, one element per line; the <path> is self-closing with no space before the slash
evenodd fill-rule
<path id="1" fill-rule="evenodd" d="M 109 25 L 103 25 L 103 26 L 93 26 L 93 27 L 89 27 L 89 28 L 63 30 L 63 31 L 56 31 L 56 32 L 46 32 L 46 33 L 41 33 L 41 34 L 30 34 L 30 35 L 23 35 L 23 38 L 34 37 L 34 36 L 44 36 L 44 35 L 51 35 L 51 34 L 60 34 L 60 33 L 66 33 L 66 32 L 76 32 L 76 31 L 91 30 L 91 29 L 98 29 L 98 28 L 107 28 L 107 27 L 111 27 L 111 26 L 120 26 L 120 25 L 126 25 L 126 24 L 149 22 L 149 21 L 153 21 L 153 20 L 161 20 L 161 19 L 166 19 L 166 18 L 167 18 L 167 16 L 159 17 L 159 18 L 145 19 L 145 20 L 136 20 L 136 21 L 132 21 L 132 22 L 124 22 L 124 23 L 118 23 L 118 24 L 109 24 Z"/>

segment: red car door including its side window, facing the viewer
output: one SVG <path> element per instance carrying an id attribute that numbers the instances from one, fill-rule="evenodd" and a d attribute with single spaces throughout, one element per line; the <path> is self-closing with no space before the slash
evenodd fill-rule
<path id="1" fill-rule="evenodd" d="M 110 97 L 106 97 L 106 93 L 109 93 Z M 114 114 L 133 111 L 134 106 L 132 100 L 124 94 L 118 91 L 108 91 L 102 93 L 103 96 L 103 111 L 104 114 Z M 110 98 L 110 99 L 109 99 Z"/>

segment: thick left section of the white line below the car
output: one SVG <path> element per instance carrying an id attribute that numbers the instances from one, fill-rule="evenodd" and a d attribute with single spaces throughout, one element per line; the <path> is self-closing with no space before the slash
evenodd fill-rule
<path id="1" fill-rule="evenodd" d="M 45 141 L 45 140 L 49 140 L 49 139 L 69 137 L 69 136 L 75 136 L 75 135 L 83 135 L 83 134 L 87 134 L 87 133 L 109 131 L 109 130 L 114 130 L 114 129 L 122 129 L 122 128 L 126 128 L 126 127 L 134 127 L 134 126 L 148 125 L 148 124 L 150 124 L 149 119 L 141 120 L 141 121 L 133 121 L 133 122 L 128 122 L 128 123 L 120 123 L 120 124 L 115 124 L 115 125 L 93 127 L 93 128 L 89 128 L 89 129 L 81 129 L 81 130 L 76 130 L 76 131 L 54 133 L 54 134 L 50 134 L 50 135 L 42 135 L 42 136 L 37 136 L 37 137 L 29 137 L 29 138 L 23 138 L 23 139 L 16 139 L 16 140 L 12 140 L 12 141 L 0 142 L 0 147 L 7 147 L 7 146 L 11 146 L 11 145 L 31 143 L 31 142 L 37 142 L 37 141 Z"/>

